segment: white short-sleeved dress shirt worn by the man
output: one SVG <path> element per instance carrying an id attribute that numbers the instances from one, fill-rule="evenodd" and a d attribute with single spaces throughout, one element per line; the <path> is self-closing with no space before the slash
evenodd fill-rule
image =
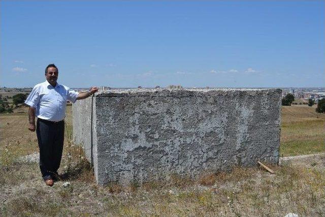
<path id="1" fill-rule="evenodd" d="M 60 121 L 66 117 L 67 100 L 76 102 L 79 92 L 56 83 L 53 87 L 48 81 L 32 88 L 25 104 L 36 108 L 36 116 L 50 121 Z"/>

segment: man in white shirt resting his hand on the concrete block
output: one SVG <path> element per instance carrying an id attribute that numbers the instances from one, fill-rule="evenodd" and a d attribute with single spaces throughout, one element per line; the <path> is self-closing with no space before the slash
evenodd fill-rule
<path id="1" fill-rule="evenodd" d="M 48 65 L 45 69 L 46 81 L 37 84 L 25 101 L 29 105 L 28 130 L 36 130 L 40 148 L 40 169 L 46 185 L 49 186 L 53 185 L 61 162 L 67 100 L 74 103 L 98 91 L 97 87 L 91 87 L 86 92 L 76 92 L 58 84 L 57 77 L 57 67 L 54 64 Z"/>

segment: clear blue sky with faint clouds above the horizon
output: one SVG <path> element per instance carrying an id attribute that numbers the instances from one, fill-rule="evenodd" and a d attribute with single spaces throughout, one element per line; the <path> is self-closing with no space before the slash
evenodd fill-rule
<path id="1" fill-rule="evenodd" d="M 324 87 L 325 1 L 1 1 L 1 86 Z"/>

